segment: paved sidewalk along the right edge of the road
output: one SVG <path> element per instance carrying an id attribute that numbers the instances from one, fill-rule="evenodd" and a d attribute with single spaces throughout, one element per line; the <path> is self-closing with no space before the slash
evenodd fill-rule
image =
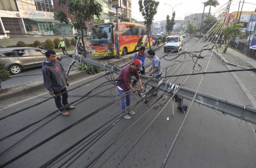
<path id="1" fill-rule="evenodd" d="M 243 53 L 239 53 L 232 48 L 228 48 L 226 53 L 223 53 L 223 49 L 219 48 L 218 52 L 220 55 L 220 59 L 226 59 L 227 62 L 236 64 L 238 66 L 232 66 L 226 64 L 229 70 L 241 70 L 248 68 L 256 68 L 256 60 L 247 57 Z M 245 68 L 239 67 L 244 66 Z M 231 72 L 235 80 L 237 80 L 238 85 L 247 95 L 248 99 L 256 108 L 256 73 L 254 71 L 241 71 L 241 72 Z"/>

